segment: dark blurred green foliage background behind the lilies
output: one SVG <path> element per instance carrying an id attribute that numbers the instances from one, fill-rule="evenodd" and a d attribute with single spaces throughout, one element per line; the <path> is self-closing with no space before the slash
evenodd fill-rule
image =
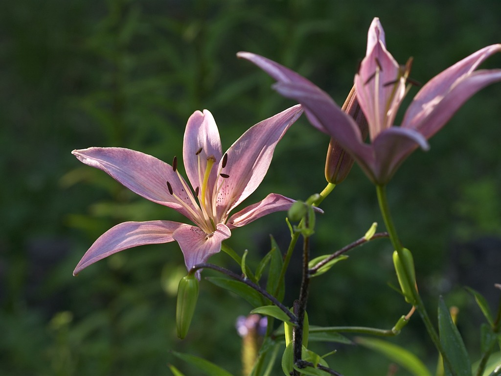
<path id="1" fill-rule="evenodd" d="M 81 164 L 73 149 L 122 146 L 170 162 L 181 155 L 186 120 L 204 108 L 227 148 L 248 127 L 294 104 L 270 88 L 265 73 L 236 59 L 238 51 L 298 71 L 342 104 L 373 17 L 380 17 L 400 63 L 414 57 L 411 76 L 424 83 L 501 42 L 499 15 L 499 1 L 0 2 L 0 374 L 170 374 L 169 363 L 197 372 L 170 350 L 239 373 L 234 322 L 248 313 L 246 302 L 202 279 L 190 332 L 176 338 L 175 294 L 185 274 L 176 243 L 127 250 L 72 276 L 113 225 L 181 219 Z M 485 66 L 501 68 L 501 56 Z M 501 84 L 475 95 L 388 187 L 424 300 L 430 312 L 439 294 L 460 308 L 458 326 L 472 360 L 480 314 L 462 286 L 494 305 L 492 285 L 501 282 L 500 101 Z M 295 199 L 320 192 L 328 142 L 302 117 L 247 204 L 269 192 Z M 358 239 L 374 221 L 383 230 L 375 190 L 357 166 L 322 207 L 314 256 Z M 228 244 L 239 254 L 248 249 L 255 266 L 270 249 L 269 234 L 285 251 L 283 214 L 233 231 Z M 391 253 L 389 242 L 373 242 L 315 279 L 310 323 L 391 328 L 408 310 L 388 287 L 396 283 Z M 300 258 L 293 257 L 287 276 L 288 305 L 297 296 Z M 235 269 L 225 255 L 210 261 Z M 391 340 L 434 368 L 435 351 L 418 317 Z M 338 349 L 329 363 L 347 374 L 384 374 L 390 363 L 351 345 L 313 349 Z"/>

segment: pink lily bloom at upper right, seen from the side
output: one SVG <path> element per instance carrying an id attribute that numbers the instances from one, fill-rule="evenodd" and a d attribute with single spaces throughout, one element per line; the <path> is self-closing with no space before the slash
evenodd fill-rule
<path id="1" fill-rule="evenodd" d="M 427 140 L 452 117 L 473 94 L 501 81 L 501 70 L 475 70 L 501 44 L 487 46 L 431 79 L 414 97 L 400 126 L 395 115 L 407 92 L 410 60 L 397 64 L 386 50 L 378 18 L 369 28 L 367 53 L 355 75 L 358 102 L 369 124 L 370 144 L 365 143 L 355 121 L 319 87 L 297 73 L 262 56 L 239 52 L 275 78 L 274 88 L 303 105 L 312 125 L 336 139 L 378 185 L 386 184 L 403 160 L 418 146 L 427 150 Z"/>

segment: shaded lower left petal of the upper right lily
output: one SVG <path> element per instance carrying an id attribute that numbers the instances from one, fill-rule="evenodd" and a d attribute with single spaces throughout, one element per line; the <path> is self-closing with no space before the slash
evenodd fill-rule
<path id="1" fill-rule="evenodd" d="M 346 149 L 369 175 L 374 167 L 371 146 L 362 141 L 357 123 L 339 108 L 322 89 L 311 84 L 277 83 L 275 89 L 285 97 L 297 100 L 317 122 Z"/>

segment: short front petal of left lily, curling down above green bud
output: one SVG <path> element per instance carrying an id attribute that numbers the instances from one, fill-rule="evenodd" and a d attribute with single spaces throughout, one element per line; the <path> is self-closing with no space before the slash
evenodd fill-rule
<path id="1" fill-rule="evenodd" d="M 221 242 L 231 236 L 231 231 L 226 225 L 218 224 L 216 231 L 207 235 L 200 228 L 190 225 L 181 225 L 172 234 L 179 243 L 184 255 L 184 262 L 188 271 L 221 250 Z M 196 272 L 200 278 L 200 271 Z"/>

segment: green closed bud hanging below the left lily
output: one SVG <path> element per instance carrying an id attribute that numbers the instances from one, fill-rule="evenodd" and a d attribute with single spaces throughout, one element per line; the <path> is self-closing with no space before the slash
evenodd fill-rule
<path id="1" fill-rule="evenodd" d="M 177 336 L 183 339 L 188 333 L 198 298 L 198 279 L 188 274 L 179 281 L 177 288 L 176 327 Z"/>

